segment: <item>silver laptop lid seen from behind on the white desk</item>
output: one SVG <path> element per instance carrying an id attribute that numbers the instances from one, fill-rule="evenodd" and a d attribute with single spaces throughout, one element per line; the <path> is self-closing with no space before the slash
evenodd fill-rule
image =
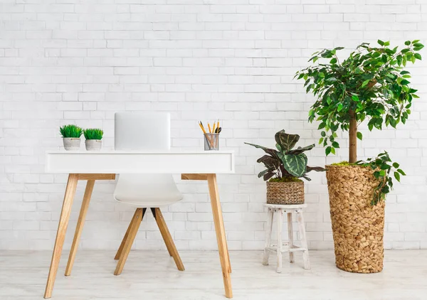
<path id="1" fill-rule="evenodd" d="M 116 150 L 169 150 L 171 117 L 162 112 L 116 112 Z"/>

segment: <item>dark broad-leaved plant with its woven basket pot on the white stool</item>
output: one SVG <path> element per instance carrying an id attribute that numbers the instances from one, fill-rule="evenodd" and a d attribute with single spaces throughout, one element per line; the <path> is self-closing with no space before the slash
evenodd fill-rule
<path id="1" fill-rule="evenodd" d="M 285 130 L 280 130 L 275 134 L 277 150 L 245 143 L 263 149 L 266 153 L 257 162 L 264 164 L 266 168 L 258 174 L 258 178 L 263 177 L 267 181 L 267 203 L 304 203 L 304 182 L 300 178 L 310 181 L 308 172 L 325 171 L 325 168 L 319 166 L 307 166 L 304 152 L 313 149 L 315 144 L 293 149 L 299 139 L 297 134 L 287 134 Z"/>

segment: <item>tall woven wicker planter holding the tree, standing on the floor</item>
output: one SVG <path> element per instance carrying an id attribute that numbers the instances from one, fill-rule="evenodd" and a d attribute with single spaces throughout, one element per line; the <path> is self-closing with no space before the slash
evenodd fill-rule
<path id="1" fill-rule="evenodd" d="M 326 166 L 335 264 L 355 273 L 383 269 L 384 201 L 371 205 L 379 181 L 369 167 Z"/>

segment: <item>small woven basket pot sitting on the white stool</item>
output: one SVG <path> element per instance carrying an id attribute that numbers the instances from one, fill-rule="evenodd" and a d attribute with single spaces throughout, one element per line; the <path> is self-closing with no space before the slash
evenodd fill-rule
<path id="1" fill-rule="evenodd" d="M 267 181 L 267 203 L 302 204 L 304 203 L 303 182 L 269 182 Z"/>

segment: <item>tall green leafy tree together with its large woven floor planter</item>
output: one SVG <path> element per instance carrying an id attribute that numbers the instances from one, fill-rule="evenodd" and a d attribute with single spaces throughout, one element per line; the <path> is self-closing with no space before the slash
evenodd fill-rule
<path id="1" fill-rule="evenodd" d="M 337 55 L 342 47 L 316 52 L 309 60 L 313 65 L 295 75 L 317 98 L 309 121 L 320 122 L 319 143 L 326 155 L 339 149 L 336 132 L 349 132 L 349 161 L 326 166 L 335 264 L 348 272 L 383 269 L 384 200 L 393 188 L 392 177 L 400 181 L 405 175 L 385 151 L 366 162 L 357 160 L 357 139 L 362 140 L 358 126 L 367 122 L 371 131 L 405 124 L 411 102 L 418 98 L 404 68 L 421 60 L 423 45 L 406 41 L 399 50 L 389 42 L 378 44 L 362 43 L 344 60 Z"/>

